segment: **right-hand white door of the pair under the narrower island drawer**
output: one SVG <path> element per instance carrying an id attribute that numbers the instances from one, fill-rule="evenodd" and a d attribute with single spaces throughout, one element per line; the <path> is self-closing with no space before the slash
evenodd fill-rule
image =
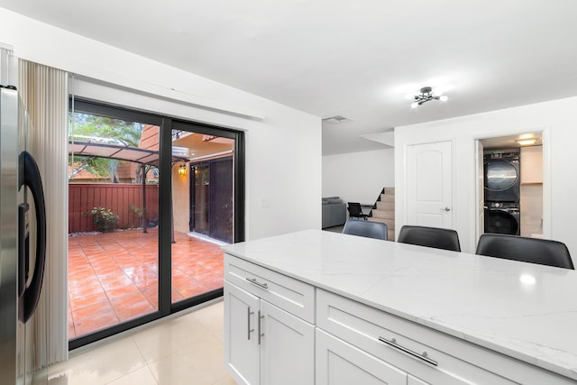
<path id="1" fill-rule="evenodd" d="M 262 385 L 315 384 L 315 326 L 261 300 Z"/>

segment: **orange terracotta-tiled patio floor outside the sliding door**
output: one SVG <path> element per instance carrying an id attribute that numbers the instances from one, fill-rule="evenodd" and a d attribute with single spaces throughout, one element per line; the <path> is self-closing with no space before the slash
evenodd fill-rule
<path id="1" fill-rule="evenodd" d="M 216 243 L 175 233 L 172 302 L 223 287 Z M 69 237 L 69 339 L 158 308 L 158 227 Z"/>

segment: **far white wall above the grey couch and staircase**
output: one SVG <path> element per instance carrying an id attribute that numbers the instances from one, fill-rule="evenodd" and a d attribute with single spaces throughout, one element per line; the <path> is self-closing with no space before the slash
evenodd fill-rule
<path id="1" fill-rule="evenodd" d="M 373 204 L 382 188 L 395 187 L 394 149 L 323 157 L 323 197 Z"/>

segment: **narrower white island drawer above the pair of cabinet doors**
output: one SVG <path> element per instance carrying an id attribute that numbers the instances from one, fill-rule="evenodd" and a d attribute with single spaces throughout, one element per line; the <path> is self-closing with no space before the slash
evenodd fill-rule
<path id="1" fill-rule="evenodd" d="M 315 324 L 315 287 L 224 254 L 224 280 Z"/>

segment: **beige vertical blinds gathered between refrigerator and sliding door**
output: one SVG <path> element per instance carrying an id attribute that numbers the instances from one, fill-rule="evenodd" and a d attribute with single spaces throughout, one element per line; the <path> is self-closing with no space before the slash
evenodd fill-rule
<path id="1" fill-rule="evenodd" d="M 41 368 L 68 359 L 68 73 L 20 60 L 19 86 L 31 122 L 27 150 L 47 202 L 46 266 L 32 321 L 34 363 Z"/>

